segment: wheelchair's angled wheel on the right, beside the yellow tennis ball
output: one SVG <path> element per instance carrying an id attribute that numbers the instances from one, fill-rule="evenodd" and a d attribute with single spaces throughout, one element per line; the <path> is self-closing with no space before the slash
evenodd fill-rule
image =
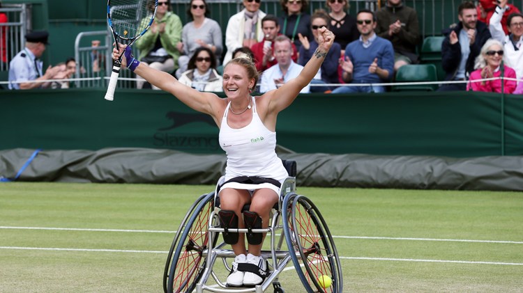
<path id="1" fill-rule="evenodd" d="M 331 232 L 316 205 L 305 196 L 289 194 L 283 201 L 283 230 L 291 260 L 307 292 L 342 292 L 340 258 Z M 302 266 L 303 265 L 303 266 Z M 319 283 L 322 276 L 331 285 Z"/>

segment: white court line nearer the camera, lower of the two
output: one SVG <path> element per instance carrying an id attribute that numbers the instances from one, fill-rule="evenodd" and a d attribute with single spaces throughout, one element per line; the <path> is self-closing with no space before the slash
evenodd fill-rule
<path id="1" fill-rule="evenodd" d="M 29 251 L 84 251 L 84 252 L 109 252 L 109 253 L 162 253 L 167 254 L 167 251 L 133 251 L 121 249 L 88 249 L 88 248 L 52 248 L 52 247 L 22 247 L 22 246 L 0 246 L 0 249 L 13 250 L 29 250 Z M 523 263 L 518 262 L 473 262 L 468 260 L 416 260 L 412 258 L 358 258 L 349 256 L 340 256 L 342 260 L 385 260 L 393 262 L 440 262 L 440 263 L 454 263 L 454 264 L 496 264 L 506 266 L 523 266 Z M 294 267 L 287 267 L 283 271 L 294 269 Z"/>

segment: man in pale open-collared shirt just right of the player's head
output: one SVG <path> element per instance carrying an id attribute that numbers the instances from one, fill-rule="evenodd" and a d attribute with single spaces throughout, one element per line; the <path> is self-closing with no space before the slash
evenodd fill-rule
<path id="1" fill-rule="evenodd" d="M 297 77 L 303 66 L 292 61 L 292 42 L 285 35 L 274 39 L 274 56 L 277 63 L 261 74 L 260 93 L 280 88 L 282 84 Z M 310 93 L 310 85 L 305 86 L 300 93 Z"/>

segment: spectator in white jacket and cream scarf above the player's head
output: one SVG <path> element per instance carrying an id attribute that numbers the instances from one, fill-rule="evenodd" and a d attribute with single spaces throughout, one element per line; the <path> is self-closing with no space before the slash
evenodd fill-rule
<path id="1" fill-rule="evenodd" d="M 261 30 L 261 19 L 265 13 L 259 10 L 260 0 L 243 0 L 243 10 L 236 13 L 227 23 L 225 30 L 225 46 L 227 53 L 223 58 L 223 65 L 232 59 L 232 52 L 239 47 L 252 47 L 264 38 Z"/>

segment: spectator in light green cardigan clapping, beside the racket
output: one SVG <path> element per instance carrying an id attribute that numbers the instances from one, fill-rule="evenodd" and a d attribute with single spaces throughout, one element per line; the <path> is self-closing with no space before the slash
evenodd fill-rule
<path id="1" fill-rule="evenodd" d="M 149 9 L 154 10 L 154 1 L 149 2 Z M 140 50 L 139 61 L 151 68 L 172 73 L 178 68 L 180 52 L 176 44 L 181 40 L 181 20 L 171 12 L 169 0 L 158 1 L 156 17 L 151 28 L 135 42 Z M 150 86 L 149 84 L 147 84 Z M 137 81 L 137 88 L 144 88 L 144 81 Z M 153 90 L 160 90 L 153 86 Z"/>

